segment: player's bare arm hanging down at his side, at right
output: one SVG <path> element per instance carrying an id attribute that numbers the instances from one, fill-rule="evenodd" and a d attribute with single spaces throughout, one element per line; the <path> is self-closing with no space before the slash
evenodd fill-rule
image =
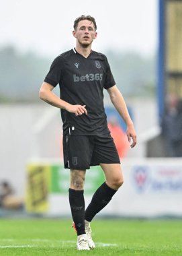
<path id="1" fill-rule="evenodd" d="M 128 141 L 130 142 L 132 138 L 131 148 L 134 148 L 134 146 L 136 145 L 136 131 L 134 129 L 132 119 L 128 113 L 128 108 L 126 106 L 124 97 L 122 96 L 122 93 L 120 92 L 120 90 L 118 90 L 116 85 L 107 89 L 107 92 L 109 93 L 113 106 L 115 106 L 116 110 L 118 110 L 118 113 L 120 114 L 122 119 L 124 119 L 124 122 L 127 125 L 126 134 L 128 137 Z"/>

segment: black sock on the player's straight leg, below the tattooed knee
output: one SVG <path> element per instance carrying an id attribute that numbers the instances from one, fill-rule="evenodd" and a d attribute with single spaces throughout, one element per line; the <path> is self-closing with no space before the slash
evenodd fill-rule
<path id="1" fill-rule="evenodd" d="M 69 189 L 69 202 L 77 235 L 85 234 L 85 200 L 83 190 Z"/>

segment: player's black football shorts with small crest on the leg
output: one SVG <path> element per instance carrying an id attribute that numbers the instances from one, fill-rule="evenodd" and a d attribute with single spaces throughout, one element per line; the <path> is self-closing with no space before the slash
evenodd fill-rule
<path id="1" fill-rule="evenodd" d="M 64 168 L 85 170 L 99 164 L 120 164 L 118 151 L 110 134 L 64 135 Z"/>

